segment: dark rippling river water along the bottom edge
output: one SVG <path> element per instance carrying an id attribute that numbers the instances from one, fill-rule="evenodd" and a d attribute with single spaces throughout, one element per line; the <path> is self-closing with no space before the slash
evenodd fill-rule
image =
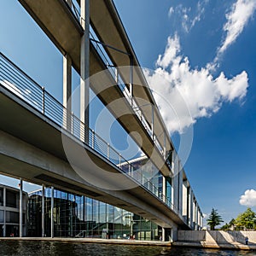
<path id="1" fill-rule="evenodd" d="M 0 241 L 0 255 L 89 255 L 89 256 L 194 256 L 194 255 L 225 255 L 238 256 L 256 255 L 256 252 L 196 249 L 188 247 L 155 247 L 104 245 L 93 243 L 60 242 L 60 241 Z"/>

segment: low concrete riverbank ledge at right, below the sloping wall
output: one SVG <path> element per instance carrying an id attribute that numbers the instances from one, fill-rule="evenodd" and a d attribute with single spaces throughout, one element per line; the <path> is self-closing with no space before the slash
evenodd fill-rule
<path id="1" fill-rule="evenodd" d="M 196 248 L 208 248 L 208 249 L 229 249 L 229 250 L 256 250 L 254 244 L 242 244 L 240 242 L 226 242 L 226 243 L 214 243 L 207 241 L 174 241 L 172 242 L 174 247 L 196 247 Z"/>

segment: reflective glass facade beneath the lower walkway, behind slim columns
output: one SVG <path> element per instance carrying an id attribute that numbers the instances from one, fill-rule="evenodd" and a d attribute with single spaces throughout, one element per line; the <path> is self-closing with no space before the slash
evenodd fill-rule
<path id="1" fill-rule="evenodd" d="M 44 190 L 44 233 L 50 236 L 51 189 Z M 54 236 L 159 240 L 161 227 L 146 218 L 84 195 L 54 189 Z M 30 194 L 28 236 L 42 236 L 42 190 Z"/>

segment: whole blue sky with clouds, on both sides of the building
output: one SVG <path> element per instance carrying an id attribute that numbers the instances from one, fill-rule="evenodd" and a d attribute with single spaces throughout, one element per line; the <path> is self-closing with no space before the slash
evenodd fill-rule
<path id="1" fill-rule="evenodd" d="M 114 3 L 141 66 L 162 74 L 148 75 L 149 84 L 170 102 L 166 91 L 177 87 L 187 102 L 190 119 L 179 116 L 178 123 L 158 103 L 176 144 L 178 132 L 193 125 L 184 168 L 202 211 L 215 207 L 225 221 L 247 206 L 256 211 L 255 1 Z M 0 9 L 0 49 L 61 100 L 61 54 L 15 0 Z M 161 79 L 169 85 L 161 88 Z M 73 84 L 78 81 L 74 73 Z M 245 195 L 247 189 L 253 190 Z"/>

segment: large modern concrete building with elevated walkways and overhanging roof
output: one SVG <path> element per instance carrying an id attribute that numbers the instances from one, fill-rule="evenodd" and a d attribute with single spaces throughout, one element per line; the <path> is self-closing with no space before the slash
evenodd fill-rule
<path id="1" fill-rule="evenodd" d="M 63 55 L 63 101 L 0 54 L 1 172 L 21 178 L 21 191 L 24 179 L 133 212 L 160 226 L 162 239 L 200 230 L 195 193 L 113 1 L 19 2 Z M 69 101 L 72 67 L 80 77 L 79 117 Z M 137 168 L 138 160 L 126 160 L 90 127 L 90 90 L 147 166 Z M 54 201 L 50 209 L 55 236 Z"/>

